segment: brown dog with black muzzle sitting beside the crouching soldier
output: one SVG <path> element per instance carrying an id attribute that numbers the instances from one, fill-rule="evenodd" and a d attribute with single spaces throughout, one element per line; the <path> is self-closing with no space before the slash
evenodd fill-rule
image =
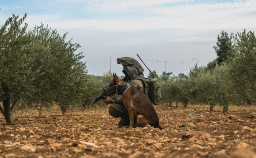
<path id="1" fill-rule="evenodd" d="M 127 84 L 125 81 L 122 81 L 114 73 L 113 77 L 114 78 L 110 85 L 116 86 L 116 93 L 118 95 L 122 95 L 122 101 L 129 113 L 129 128 L 134 126 L 134 116 L 136 115 L 136 121 L 139 126 L 145 127 L 148 124 L 154 128 L 162 130 L 163 128 L 159 125 L 157 112 L 145 94 L 135 87 Z"/>

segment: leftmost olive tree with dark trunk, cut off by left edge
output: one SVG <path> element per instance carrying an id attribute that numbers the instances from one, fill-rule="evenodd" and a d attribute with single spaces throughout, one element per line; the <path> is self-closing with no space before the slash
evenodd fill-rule
<path id="1" fill-rule="evenodd" d="M 0 27 L 0 99 L 3 108 L 0 107 L 6 123 L 12 123 L 12 108 L 26 93 L 29 85 L 29 76 L 32 72 L 30 63 L 31 38 L 26 34 L 28 24 L 23 22 L 26 14 L 8 18 Z"/>

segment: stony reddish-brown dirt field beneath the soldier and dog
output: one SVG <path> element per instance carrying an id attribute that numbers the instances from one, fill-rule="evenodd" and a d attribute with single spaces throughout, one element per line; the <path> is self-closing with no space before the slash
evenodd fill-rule
<path id="1" fill-rule="evenodd" d="M 117 128 L 107 108 L 16 113 L 0 116 L 0 158 L 224 158 L 238 148 L 256 151 L 256 107 L 155 106 L 158 128 Z M 244 153 L 243 153 L 244 152 Z M 239 151 L 246 154 L 248 151 Z"/>

